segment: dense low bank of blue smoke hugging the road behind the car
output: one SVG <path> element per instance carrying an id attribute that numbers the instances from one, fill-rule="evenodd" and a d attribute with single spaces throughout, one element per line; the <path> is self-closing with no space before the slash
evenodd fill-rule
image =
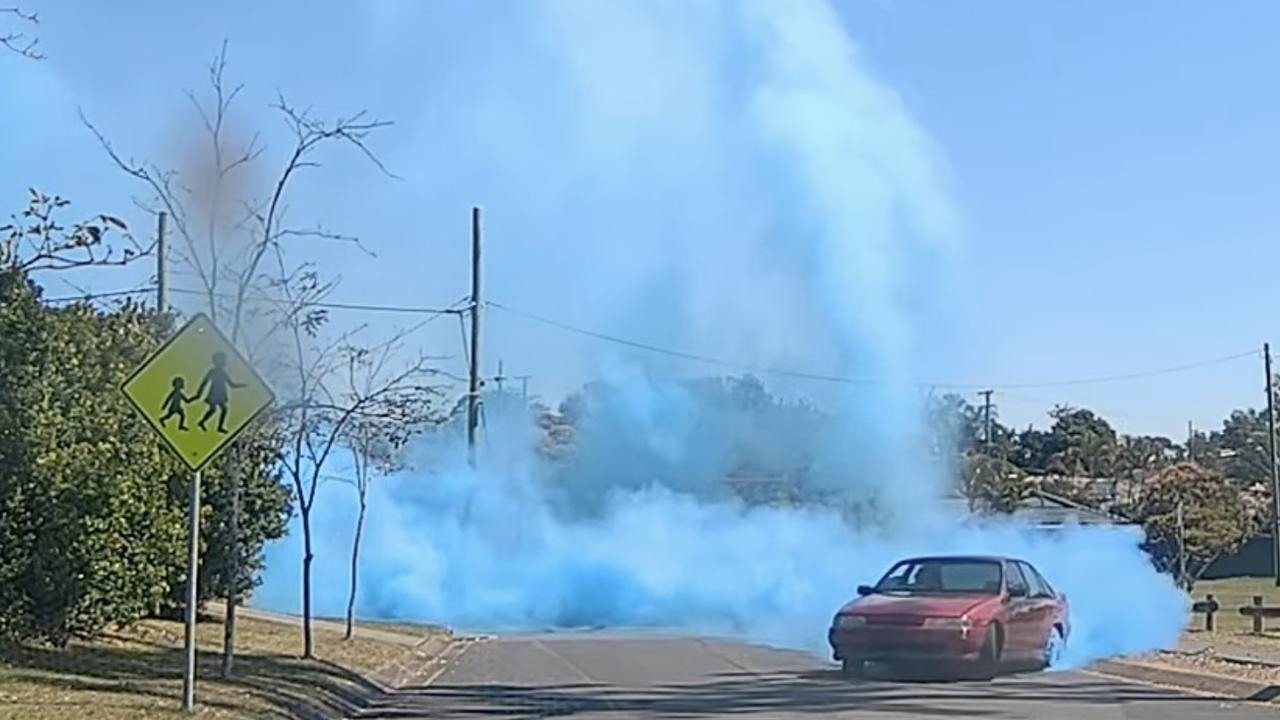
<path id="1" fill-rule="evenodd" d="M 1068 666 L 1169 647 L 1187 618 L 1184 596 L 1130 528 L 979 525 L 923 502 L 931 521 L 904 534 L 859 529 L 833 509 L 748 506 L 658 484 L 612 487 L 602 503 L 566 509 L 549 478 L 527 470 L 476 474 L 454 462 L 375 483 L 358 615 L 488 632 L 682 629 L 824 653 L 835 610 L 899 557 L 980 552 L 1024 557 L 1068 594 Z M 344 610 L 351 493 L 328 484 L 316 502 L 321 615 Z M 271 548 L 256 602 L 297 607 L 297 542 Z"/>

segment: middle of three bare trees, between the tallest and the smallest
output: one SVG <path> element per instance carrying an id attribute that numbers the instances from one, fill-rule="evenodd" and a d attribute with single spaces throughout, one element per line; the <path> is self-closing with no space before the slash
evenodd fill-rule
<path id="1" fill-rule="evenodd" d="M 311 566 L 314 532 L 311 511 L 324 470 L 333 454 L 358 428 L 371 432 L 387 429 L 396 438 L 406 438 L 421 418 L 430 400 L 439 393 L 434 379 L 438 373 L 426 357 L 408 363 L 403 369 L 385 372 L 403 333 L 369 350 L 356 346 L 357 328 L 324 341 L 320 329 L 328 314 L 320 306 L 334 283 L 321 281 L 314 268 L 289 269 L 283 252 L 276 250 L 279 275 L 275 281 L 287 305 L 280 324 L 291 338 L 279 361 L 289 375 L 291 402 L 280 407 L 287 442 L 282 452 L 284 474 L 293 484 L 298 519 L 302 525 L 302 646 L 303 657 L 315 657 L 311 612 Z M 366 382 L 348 382 L 335 389 L 343 369 L 355 378 L 357 370 Z M 403 442 L 403 441 L 399 441 Z M 367 486 L 366 486 L 367 487 Z"/>

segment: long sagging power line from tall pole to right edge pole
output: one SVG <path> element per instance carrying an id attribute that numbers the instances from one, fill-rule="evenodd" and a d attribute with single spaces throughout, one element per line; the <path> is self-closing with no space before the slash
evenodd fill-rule
<path id="1" fill-rule="evenodd" d="M 503 310 L 506 313 L 511 313 L 512 315 L 517 315 L 517 316 L 521 316 L 521 318 L 525 318 L 525 319 L 529 319 L 529 320 L 534 320 L 534 322 L 538 322 L 538 323 L 541 323 L 541 324 L 545 324 L 545 325 L 550 325 L 550 327 L 554 327 L 554 328 L 558 328 L 558 329 L 562 329 L 562 331 L 566 331 L 566 332 L 571 332 L 571 333 L 576 333 L 576 334 L 591 337 L 591 338 L 600 340 L 600 341 L 604 341 L 604 342 L 612 342 L 612 343 L 616 343 L 616 345 L 622 345 L 622 346 L 626 346 L 626 347 L 632 347 L 632 348 L 636 348 L 636 350 L 643 350 L 645 352 L 653 352 L 653 354 L 657 354 L 657 355 L 666 355 L 666 356 L 669 356 L 669 357 L 680 357 L 682 360 L 692 360 L 692 361 L 696 361 L 696 363 L 705 363 L 705 364 L 709 364 L 709 365 L 719 365 L 722 368 L 731 368 L 731 369 L 736 369 L 736 370 L 745 370 L 745 372 L 751 372 L 751 373 L 768 373 L 768 374 L 773 374 L 773 375 L 781 375 L 781 377 L 788 377 L 788 378 L 797 378 L 797 379 L 806 379 L 806 380 L 819 380 L 819 382 L 844 383 L 844 384 L 887 384 L 884 380 L 876 380 L 876 379 L 869 379 L 869 378 L 851 378 L 851 377 L 844 377 L 844 375 L 828 375 L 828 374 L 820 374 L 820 373 L 809 373 L 809 372 L 803 372 L 803 370 L 788 370 L 788 369 L 782 369 L 782 368 L 767 368 L 767 366 L 759 366 L 759 365 L 750 365 L 750 364 L 745 364 L 745 363 L 737 363 L 737 361 L 733 361 L 733 360 L 726 360 L 726 359 L 722 359 L 722 357 L 713 357 L 713 356 L 709 356 L 709 355 L 699 355 L 699 354 L 695 354 L 695 352 L 686 352 L 686 351 L 682 351 L 682 350 L 672 350 L 672 348 L 668 348 L 668 347 L 659 347 L 659 346 L 655 346 L 655 345 L 649 345 L 649 343 L 637 342 L 637 341 L 634 341 L 634 340 L 627 340 L 627 338 L 622 338 L 622 337 L 617 337 L 617 336 L 612 336 L 612 334 L 607 334 L 607 333 L 602 333 L 602 332 L 596 332 L 596 331 L 590 331 L 590 329 L 586 329 L 586 328 L 580 328 L 580 327 L 576 327 L 576 325 L 571 325 L 568 323 L 563 323 L 561 320 L 554 320 L 552 318 L 545 318 L 543 315 L 535 315 L 532 313 L 526 313 L 524 310 L 516 310 L 515 307 L 509 307 L 507 305 L 503 305 L 500 302 L 495 302 L 495 301 L 492 301 L 492 300 L 488 301 L 488 302 L 485 302 L 485 305 L 488 305 L 490 307 L 497 307 L 498 310 Z M 1258 355 L 1257 350 L 1248 350 L 1248 351 L 1244 351 L 1244 352 L 1235 352 L 1235 354 L 1225 355 L 1225 356 L 1221 356 L 1221 357 L 1212 357 L 1212 359 L 1208 359 L 1208 360 L 1199 360 L 1199 361 L 1196 361 L 1196 363 L 1187 363 L 1187 364 L 1175 365 L 1175 366 L 1171 366 L 1171 368 L 1160 368 L 1160 369 L 1155 369 L 1155 370 L 1146 370 L 1146 372 L 1139 372 L 1139 373 L 1124 373 L 1124 374 L 1116 374 L 1116 375 L 1078 378 L 1078 379 L 1070 379 L 1070 380 L 1048 380 L 1048 382 L 1036 382 L 1036 383 L 929 383 L 929 382 L 910 382 L 910 383 L 906 383 L 906 384 L 910 384 L 910 386 L 914 386 L 914 387 L 922 387 L 922 388 L 942 388 L 942 389 L 1019 389 L 1019 388 L 1044 388 L 1044 387 L 1068 387 L 1068 386 L 1102 384 L 1102 383 L 1112 383 L 1112 382 L 1121 382 L 1121 380 L 1132 380 L 1132 379 L 1149 378 L 1149 377 L 1157 377 L 1157 375 L 1166 375 L 1166 374 L 1171 374 L 1171 373 L 1181 373 L 1181 372 L 1185 372 L 1185 370 L 1193 370 L 1193 369 L 1197 369 L 1197 368 L 1206 368 L 1206 366 L 1210 366 L 1210 365 L 1217 365 L 1217 364 L 1222 364 L 1222 363 L 1229 363 L 1231 360 L 1239 360 L 1242 357 L 1251 357 L 1251 356 L 1257 356 L 1257 355 Z"/>

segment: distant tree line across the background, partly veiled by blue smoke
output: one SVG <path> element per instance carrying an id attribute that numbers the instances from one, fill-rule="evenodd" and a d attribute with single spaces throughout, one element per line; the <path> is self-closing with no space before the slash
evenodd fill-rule
<path id="1" fill-rule="evenodd" d="M 682 383 L 677 395 L 696 418 L 689 430 L 695 443 L 675 450 L 687 462 L 669 464 L 648 452 L 641 438 L 626 439 L 635 433 L 617 420 L 623 392 L 590 383 L 539 411 L 540 452 L 562 468 L 561 482 L 590 471 L 604 432 L 617 436 L 603 443 L 616 480 L 669 470 L 680 487 L 700 470 L 708 475 L 704 486 L 749 502 L 838 502 L 832 488 L 850 470 L 822 468 L 819 455 L 820 438 L 833 428 L 838 433 L 841 420 L 814 405 L 780 398 L 753 375 Z M 1220 428 L 1184 442 L 1120 433 L 1098 413 L 1069 405 L 1050 410 L 1047 428 L 1023 429 L 1004 424 L 996 407 L 988 425 L 983 407 L 955 393 L 929 395 L 923 411 L 919 452 L 937 461 L 972 512 L 1011 514 L 1042 493 L 1142 525 L 1156 566 L 1187 587 L 1217 557 L 1271 527 L 1263 411 L 1235 410 Z M 822 474 L 835 477 L 823 482 Z"/>

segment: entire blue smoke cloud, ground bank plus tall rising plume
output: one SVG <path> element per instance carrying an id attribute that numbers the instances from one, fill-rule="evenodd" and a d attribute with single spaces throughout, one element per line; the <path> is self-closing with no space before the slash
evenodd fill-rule
<path id="1" fill-rule="evenodd" d="M 826 653 L 827 624 L 858 584 L 904 555 L 954 551 L 1025 557 L 1065 591 L 1071 666 L 1176 641 L 1185 597 L 1133 532 L 978 525 L 938 502 L 950 470 L 924 450 L 909 380 L 945 365 L 922 338 L 960 297 L 957 223 L 931 140 L 826 3 L 520 8 L 511 15 L 535 37 L 504 41 L 515 55 L 476 78 L 479 99 L 460 99 L 490 123 L 534 128 L 513 133 L 518 145 L 457 138 L 481 154 L 467 167 L 507 178 L 484 186 L 516 238 L 495 284 L 531 284 L 531 306 L 618 334 L 876 382 L 783 382 L 826 420 L 809 425 L 792 406 L 760 427 L 680 382 L 689 366 L 530 341 L 524 352 L 550 356 L 543 366 L 603 380 L 573 461 L 544 462 L 524 415 L 490 414 L 479 471 L 447 438 L 420 443 L 413 470 L 371 489 L 361 616 L 666 628 Z M 503 38 L 524 32 L 506 14 L 493 22 Z M 548 47 L 559 53 L 549 64 Z M 502 105 L 530 83 L 568 110 Z M 529 164 L 543 154 L 554 163 Z M 724 478 L 744 454 L 806 459 L 805 488 L 824 500 L 741 502 Z M 344 610 L 355 510 L 349 487 L 320 488 L 317 614 Z M 269 550 L 256 603 L 298 607 L 298 536 Z"/>

